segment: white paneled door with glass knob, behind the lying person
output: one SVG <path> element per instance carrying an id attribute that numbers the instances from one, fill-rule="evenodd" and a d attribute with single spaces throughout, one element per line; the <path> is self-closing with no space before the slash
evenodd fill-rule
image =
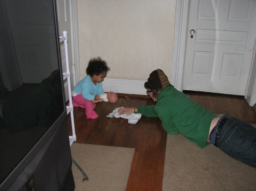
<path id="1" fill-rule="evenodd" d="M 256 38 L 256 0 L 191 0 L 187 35 L 183 90 L 244 96 Z"/>

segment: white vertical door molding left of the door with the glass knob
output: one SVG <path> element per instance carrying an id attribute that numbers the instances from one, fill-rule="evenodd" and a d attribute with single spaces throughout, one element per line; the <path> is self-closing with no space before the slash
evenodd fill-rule
<path id="1" fill-rule="evenodd" d="M 173 48 L 173 66 L 171 71 L 171 84 L 182 91 L 183 70 L 185 63 L 187 22 L 188 22 L 189 0 L 176 1 L 176 18 Z"/>

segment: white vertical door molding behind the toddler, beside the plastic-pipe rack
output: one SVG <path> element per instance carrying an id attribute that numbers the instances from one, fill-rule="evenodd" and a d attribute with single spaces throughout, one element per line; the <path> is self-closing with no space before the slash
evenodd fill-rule
<path id="1" fill-rule="evenodd" d="M 70 26 L 72 43 L 72 73 L 75 73 L 73 86 L 80 81 L 80 63 L 79 63 L 79 45 L 78 45 L 78 19 L 77 19 L 77 1 L 70 0 Z"/>

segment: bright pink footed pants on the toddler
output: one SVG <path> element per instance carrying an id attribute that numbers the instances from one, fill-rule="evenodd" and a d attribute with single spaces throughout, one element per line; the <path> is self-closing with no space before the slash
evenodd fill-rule
<path id="1" fill-rule="evenodd" d="M 95 111 L 94 108 L 96 107 L 96 104 L 91 105 L 89 100 L 86 100 L 82 97 L 82 94 L 78 94 L 77 96 L 72 96 L 73 98 L 73 106 L 74 107 L 81 107 L 85 108 L 85 114 L 87 116 L 87 119 L 95 119 L 99 117 Z"/>

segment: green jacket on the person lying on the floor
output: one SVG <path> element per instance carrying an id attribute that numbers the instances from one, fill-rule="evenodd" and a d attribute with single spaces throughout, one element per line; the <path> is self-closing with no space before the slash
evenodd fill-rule
<path id="1" fill-rule="evenodd" d="M 173 86 L 158 96 L 157 104 L 137 108 L 146 117 L 159 117 L 167 133 L 182 133 L 188 140 L 203 148 L 207 142 L 211 121 L 217 114 L 205 110 Z"/>

